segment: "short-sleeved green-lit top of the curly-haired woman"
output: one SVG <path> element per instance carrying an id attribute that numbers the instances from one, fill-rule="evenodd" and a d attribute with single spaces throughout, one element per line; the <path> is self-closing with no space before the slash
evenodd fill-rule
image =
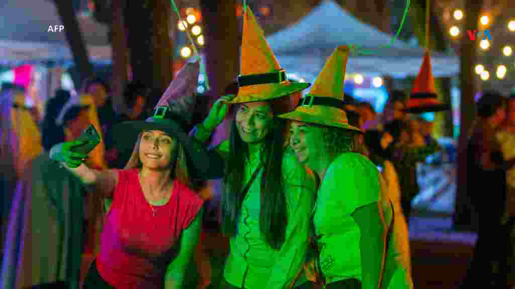
<path id="1" fill-rule="evenodd" d="M 325 173 L 313 222 L 319 236 L 320 267 L 328 283 L 362 280 L 359 240 L 363 234 L 352 213 L 381 200 L 379 182 L 376 166 L 357 153 L 339 155 Z"/>

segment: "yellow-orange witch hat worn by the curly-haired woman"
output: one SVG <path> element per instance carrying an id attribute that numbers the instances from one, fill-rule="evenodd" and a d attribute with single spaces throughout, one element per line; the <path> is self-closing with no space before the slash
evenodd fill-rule
<path id="1" fill-rule="evenodd" d="M 293 112 L 279 117 L 361 132 L 345 114 L 344 79 L 349 46 L 338 46 L 322 68 L 309 94 Z"/>

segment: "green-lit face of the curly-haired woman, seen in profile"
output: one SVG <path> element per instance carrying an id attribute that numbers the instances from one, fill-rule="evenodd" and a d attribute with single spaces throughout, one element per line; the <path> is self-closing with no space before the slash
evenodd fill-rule
<path id="1" fill-rule="evenodd" d="M 293 121 L 290 124 L 289 143 L 299 162 L 308 167 L 320 159 L 322 154 L 328 154 L 325 149 L 323 130 L 304 122 Z"/>

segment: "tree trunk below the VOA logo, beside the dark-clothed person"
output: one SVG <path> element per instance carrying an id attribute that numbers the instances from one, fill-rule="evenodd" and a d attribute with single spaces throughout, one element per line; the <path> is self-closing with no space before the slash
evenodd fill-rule
<path id="1" fill-rule="evenodd" d="M 465 27 L 477 29 L 477 19 L 483 6 L 483 1 L 466 1 L 465 3 Z M 461 89 L 459 105 L 459 139 L 458 139 L 458 171 L 456 186 L 456 203 L 454 225 L 456 227 L 470 229 L 475 225 L 475 214 L 471 213 L 472 207 L 467 188 L 467 138 L 475 117 L 474 95 L 477 91 L 474 64 L 477 58 L 476 42 L 469 41 L 467 37 L 460 39 L 460 68 L 459 86 Z M 473 227 L 472 227 L 473 228 Z"/>

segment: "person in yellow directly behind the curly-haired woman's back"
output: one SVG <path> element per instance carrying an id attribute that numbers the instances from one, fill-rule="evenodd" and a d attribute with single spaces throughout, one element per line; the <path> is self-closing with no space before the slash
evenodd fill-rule
<path id="1" fill-rule="evenodd" d="M 401 206 L 401 188 L 399 187 L 399 178 L 397 171 L 392 162 L 388 160 L 386 148 L 393 141 L 393 137 L 388 132 L 369 130 L 365 133 L 365 145 L 369 151 L 369 158 L 380 170 L 384 179 L 383 193 L 393 204 L 393 231 L 392 240 L 389 246 L 394 248 L 391 255 L 388 255 L 387 262 L 393 262 L 399 267 L 400 280 L 410 284 L 411 281 L 411 254 L 409 250 L 409 231 L 406 218 L 402 213 Z M 390 260 L 393 258 L 393 260 Z M 401 277 L 402 276 L 402 277 Z M 397 288 L 392 286 L 392 288 Z"/>

